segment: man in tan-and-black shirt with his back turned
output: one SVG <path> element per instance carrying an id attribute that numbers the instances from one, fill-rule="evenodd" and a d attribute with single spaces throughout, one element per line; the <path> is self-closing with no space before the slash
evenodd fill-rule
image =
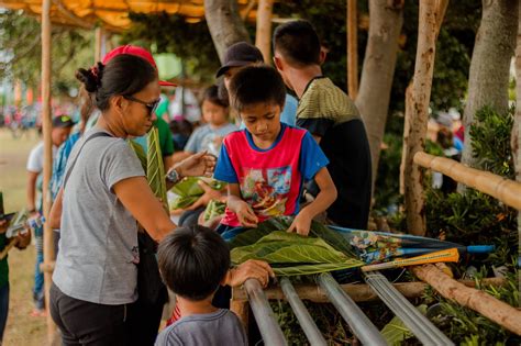
<path id="1" fill-rule="evenodd" d="M 313 26 L 292 21 L 274 33 L 274 63 L 299 98 L 297 126 L 308 130 L 325 156 L 339 198 L 328 217 L 340 226 L 365 230 L 372 198 L 372 161 L 364 123 L 354 102 L 322 75 L 325 52 Z M 317 193 L 314 183 L 308 186 Z"/>

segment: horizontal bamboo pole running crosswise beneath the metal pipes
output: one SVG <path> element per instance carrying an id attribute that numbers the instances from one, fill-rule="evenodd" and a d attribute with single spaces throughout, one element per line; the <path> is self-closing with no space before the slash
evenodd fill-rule
<path id="1" fill-rule="evenodd" d="M 461 284 L 467 287 L 475 287 L 476 282 L 473 280 L 458 281 Z M 501 287 L 505 284 L 503 278 L 487 278 L 481 280 L 481 284 L 494 287 Z M 400 294 L 406 298 L 413 299 L 423 294 L 429 284 L 421 281 L 415 282 L 400 282 L 393 283 Z M 373 291 L 368 284 L 347 283 L 340 284 L 341 289 L 347 293 L 355 302 L 370 302 L 378 300 L 378 295 Z M 329 302 L 328 295 L 317 284 L 296 284 L 295 290 L 301 300 L 309 300 L 314 303 Z M 268 300 L 285 300 L 286 297 L 280 287 L 271 287 L 264 290 L 264 294 Z M 233 289 L 232 301 L 247 301 L 247 294 L 243 288 Z"/>

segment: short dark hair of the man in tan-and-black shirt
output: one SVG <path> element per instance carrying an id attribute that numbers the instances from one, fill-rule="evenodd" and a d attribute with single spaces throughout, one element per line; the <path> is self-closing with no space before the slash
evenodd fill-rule
<path id="1" fill-rule="evenodd" d="M 308 21 L 293 21 L 277 26 L 274 32 L 274 52 L 278 51 L 290 65 L 320 64 L 320 38 Z"/>

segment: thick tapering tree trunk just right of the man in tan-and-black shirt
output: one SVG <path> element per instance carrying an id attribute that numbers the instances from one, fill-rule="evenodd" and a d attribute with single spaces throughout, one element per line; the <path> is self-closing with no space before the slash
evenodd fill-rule
<path id="1" fill-rule="evenodd" d="M 376 181 L 380 144 L 389 112 L 398 36 L 403 23 L 402 5 L 391 7 L 388 3 L 387 0 L 369 1 L 369 37 L 355 102 L 369 139 L 373 187 Z"/>

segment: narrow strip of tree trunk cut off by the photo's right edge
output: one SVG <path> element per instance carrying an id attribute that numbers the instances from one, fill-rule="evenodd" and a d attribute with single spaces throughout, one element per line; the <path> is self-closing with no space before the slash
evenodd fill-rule
<path id="1" fill-rule="evenodd" d="M 521 5 L 518 9 L 519 19 L 521 19 Z M 518 48 L 516 49 L 516 90 L 517 107 L 516 118 L 512 127 L 512 155 L 516 169 L 516 180 L 521 182 L 521 21 L 518 20 Z M 518 239 L 521 239 L 521 211 L 518 212 Z M 521 254 L 521 247 L 518 247 Z M 519 287 L 521 287 L 521 276 L 518 276 Z"/>

